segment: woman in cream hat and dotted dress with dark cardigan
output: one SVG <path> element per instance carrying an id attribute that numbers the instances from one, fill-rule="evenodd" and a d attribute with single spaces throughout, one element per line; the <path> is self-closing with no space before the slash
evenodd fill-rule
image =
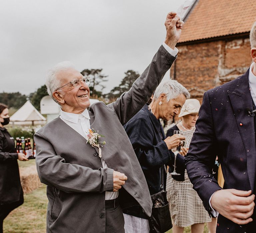
<path id="1" fill-rule="evenodd" d="M 186 136 L 186 148 L 182 147 L 180 154 L 185 156 L 190 141 L 195 131 L 200 102 L 196 99 L 188 99 L 183 105 L 179 117 L 182 120 L 168 129 L 166 136 L 172 136 L 174 130 L 182 131 Z M 204 223 L 211 222 L 208 212 L 205 210 L 200 197 L 193 189 L 185 167 L 177 166 L 176 171 L 180 175 L 171 175 L 173 167 L 169 167 L 166 180 L 167 197 L 170 213 L 173 220 L 173 232 L 183 232 L 184 227 L 191 226 L 192 233 L 200 233 L 204 230 Z"/>

